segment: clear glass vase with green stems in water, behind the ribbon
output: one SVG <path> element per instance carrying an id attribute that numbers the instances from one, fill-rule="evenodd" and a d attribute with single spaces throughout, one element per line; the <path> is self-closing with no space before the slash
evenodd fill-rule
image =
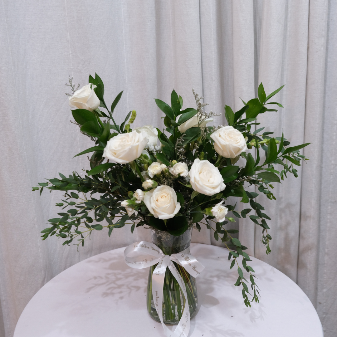
<path id="1" fill-rule="evenodd" d="M 190 246 L 192 228 L 188 229 L 184 234 L 180 236 L 173 236 L 168 232 L 162 232 L 151 229 L 152 243 L 158 246 L 165 255 L 171 255 L 179 253 Z M 188 298 L 188 307 L 190 311 L 190 317 L 196 314 L 197 308 L 197 292 L 195 278 L 191 276 L 185 268 L 181 267 L 177 263 L 175 266 L 184 280 L 186 286 L 186 293 Z M 157 310 L 154 305 L 152 297 L 152 273 L 157 265 L 150 268 L 149 281 L 147 287 L 147 309 L 150 316 L 160 322 Z M 185 296 L 177 282 L 172 275 L 171 271 L 166 268 L 164 286 L 163 286 L 163 321 L 165 324 L 178 324 L 182 316 L 183 308 L 185 305 Z"/>

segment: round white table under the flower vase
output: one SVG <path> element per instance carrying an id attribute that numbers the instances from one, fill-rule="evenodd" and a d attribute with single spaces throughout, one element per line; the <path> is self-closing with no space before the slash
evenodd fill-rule
<path id="1" fill-rule="evenodd" d="M 14 337 L 164 337 L 146 309 L 149 268 L 128 267 L 123 252 L 90 257 L 50 280 L 27 304 Z M 324 336 L 308 297 L 277 269 L 251 258 L 262 297 L 246 308 L 227 249 L 191 244 L 191 254 L 206 268 L 189 337 Z"/>

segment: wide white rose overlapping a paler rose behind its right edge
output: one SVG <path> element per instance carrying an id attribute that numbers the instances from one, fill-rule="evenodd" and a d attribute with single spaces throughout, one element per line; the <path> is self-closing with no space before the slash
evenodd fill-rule
<path id="1" fill-rule="evenodd" d="M 119 133 L 106 143 L 103 157 L 119 164 L 129 163 L 142 154 L 147 142 L 145 133 Z"/>

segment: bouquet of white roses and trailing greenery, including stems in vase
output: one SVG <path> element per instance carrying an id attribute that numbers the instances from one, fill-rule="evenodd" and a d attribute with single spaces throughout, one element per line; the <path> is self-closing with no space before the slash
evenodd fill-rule
<path id="1" fill-rule="evenodd" d="M 200 231 L 205 225 L 214 232 L 214 238 L 229 249 L 230 268 L 237 264 L 235 285 L 242 286 L 245 305 L 257 302 L 254 270 L 248 265 L 251 259 L 245 253 L 247 247 L 237 239 L 238 231 L 231 229 L 230 224 L 235 220 L 228 217 L 227 212 L 238 218 L 249 217 L 261 226 L 262 242 L 267 254 L 270 253 L 272 238 L 267 224 L 270 218 L 263 212 L 263 206 L 254 201 L 258 193 L 249 192 L 246 187 L 254 185 L 261 194 L 276 200 L 273 183 L 280 183 L 288 174 L 298 177 L 296 167 L 301 165 L 302 159 L 307 160 L 299 150 L 310 144 L 289 147 L 290 142 L 283 133 L 281 137 L 272 137 L 273 132 L 264 131 L 264 127 L 255 130 L 255 125 L 260 124 L 259 114 L 277 111 L 268 109 L 269 104 L 283 108 L 280 103 L 269 102 L 283 86 L 266 96 L 261 83 L 258 98 L 247 103 L 242 101 L 243 108 L 235 113 L 226 105 L 226 126 L 207 126 L 216 115 L 212 111 L 205 112 L 207 104 L 202 103 L 202 97 L 194 90 L 196 108 L 184 110 L 182 97 L 173 90 L 171 106 L 155 99 L 164 113 L 164 129 L 152 125 L 132 129 L 136 111 L 130 111 L 124 122 L 117 125 L 113 114 L 122 92 L 109 109 L 103 97 L 103 82 L 97 74 L 95 78 L 90 75 L 89 84 L 78 87 L 79 90 L 75 90 L 72 79 L 68 85 L 72 90 L 72 94 L 68 94 L 69 105 L 74 109 L 72 123 L 78 125 L 95 146 L 76 154 L 92 153 L 88 157 L 91 170 L 84 171 L 83 176 L 76 172 L 68 177 L 59 174 L 60 178 L 33 187 L 40 193 L 43 188 L 65 191 L 64 200 L 56 206 L 66 210 L 48 220 L 49 227 L 41 232 L 43 240 L 55 235 L 65 239 L 64 245 L 77 241 L 77 246 L 83 246 L 92 232 L 103 228 L 108 229 L 110 236 L 114 228 L 126 224 L 131 224 L 131 232 L 135 226 L 147 225 L 153 230 L 154 243 L 170 255 L 188 248 L 192 227 Z M 243 158 L 243 165 L 237 165 L 239 158 Z M 236 204 L 226 203 L 228 197 L 238 197 L 239 202 L 249 206 L 239 212 Z M 239 262 L 248 273 L 251 293 Z M 182 266 L 175 265 L 186 284 L 188 305 L 193 313 L 195 279 Z M 154 266 L 150 274 L 153 269 Z M 166 273 L 163 311 L 166 322 L 170 323 L 176 315 L 181 318 L 183 297 L 171 272 Z M 157 319 L 151 292 L 148 292 L 148 309 Z"/>

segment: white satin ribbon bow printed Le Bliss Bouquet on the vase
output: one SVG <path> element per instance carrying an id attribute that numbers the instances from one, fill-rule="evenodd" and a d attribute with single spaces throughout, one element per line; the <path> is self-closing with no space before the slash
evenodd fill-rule
<path id="1" fill-rule="evenodd" d="M 163 326 L 167 337 L 187 337 L 190 329 L 190 313 L 185 283 L 177 268 L 172 263 L 172 261 L 178 263 L 180 266 L 184 267 L 190 275 L 197 277 L 205 267 L 198 262 L 194 256 L 189 254 L 189 248 L 190 247 L 186 248 L 180 253 L 165 255 L 155 244 L 147 241 L 140 241 L 127 246 L 124 250 L 125 263 L 132 268 L 142 269 L 158 263 L 152 273 L 152 296 L 161 325 Z M 171 273 L 176 278 L 185 296 L 185 305 L 182 316 L 174 332 L 168 329 L 163 323 L 162 303 L 166 267 L 170 269 Z"/>

